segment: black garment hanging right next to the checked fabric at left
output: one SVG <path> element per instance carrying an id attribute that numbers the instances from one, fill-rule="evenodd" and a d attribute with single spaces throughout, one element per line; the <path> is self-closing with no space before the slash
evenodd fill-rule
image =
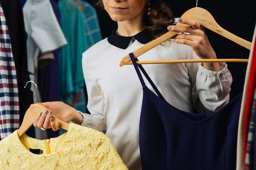
<path id="1" fill-rule="evenodd" d="M 30 79 L 27 69 L 27 44 L 22 4 L 20 0 L 0 0 L 0 2 L 9 30 L 11 49 L 16 67 L 20 103 L 19 113 L 20 120 L 22 120 L 26 110 L 33 103 L 33 93 L 30 90 L 30 84 L 28 88 L 24 88 L 24 85 Z"/>

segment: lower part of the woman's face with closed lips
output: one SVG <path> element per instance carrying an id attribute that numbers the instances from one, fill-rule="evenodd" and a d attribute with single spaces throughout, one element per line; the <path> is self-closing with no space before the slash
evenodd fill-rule
<path id="1" fill-rule="evenodd" d="M 142 19 L 145 0 L 102 0 L 102 2 L 114 21 Z"/>

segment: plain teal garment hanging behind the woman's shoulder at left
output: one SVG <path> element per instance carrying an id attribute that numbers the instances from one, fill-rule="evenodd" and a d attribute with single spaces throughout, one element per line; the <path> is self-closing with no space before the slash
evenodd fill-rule
<path id="1" fill-rule="evenodd" d="M 60 0 L 61 29 L 68 44 L 59 54 L 61 100 L 74 103 L 74 96 L 85 86 L 82 70 L 82 54 L 86 48 L 85 28 L 81 8 L 73 0 Z"/>

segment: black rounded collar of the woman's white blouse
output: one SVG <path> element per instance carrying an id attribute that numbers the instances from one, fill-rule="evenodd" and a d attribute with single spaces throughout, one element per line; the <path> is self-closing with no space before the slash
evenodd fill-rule
<path id="1" fill-rule="evenodd" d="M 147 44 L 149 41 L 153 40 L 153 37 L 148 29 L 144 29 L 132 37 L 134 37 L 141 44 Z M 126 49 L 130 44 L 132 37 L 122 37 L 120 35 L 117 35 L 117 31 L 116 29 L 114 29 L 108 37 L 108 42 L 118 48 Z"/>

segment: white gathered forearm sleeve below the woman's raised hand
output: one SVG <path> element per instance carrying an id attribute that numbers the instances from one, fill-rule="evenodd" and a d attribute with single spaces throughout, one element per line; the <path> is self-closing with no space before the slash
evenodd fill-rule
<path id="1" fill-rule="evenodd" d="M 213 113 L 229 102 L 230 86 L 233 81 L 226 63 L 219 63 L 220 71 L 207 70 L 201 64 L 192 89 L 192 100 L 200 113 Z"/>

